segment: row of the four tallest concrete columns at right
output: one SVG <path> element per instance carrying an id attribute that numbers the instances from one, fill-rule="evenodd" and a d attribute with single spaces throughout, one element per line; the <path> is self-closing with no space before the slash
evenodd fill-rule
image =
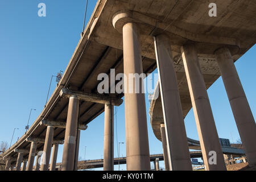
<path id="1" fill-rule="evenodd" d="M 141 74 L 143 72 L 139 29 L 137 23 L 132 20 L 127 21 L 127 16 L 129 15 L 120 13 L 113 17 L 114 27 L 117 30 L 119 28 L 119 32 L 120 27 L 122 27 L 123 64 L 126 76 L 130 73 Z M 161 127 L 161 131 L 162 136 L 165 135 L 162 139 L 166 146 L 164 146 L 164 156 L 168 158 L 166 168 L 170 170 L 192 170 L 172 58 L 171 41 L 166 35 L 155 36 L 154 40 L 165 125 L 165 127 Z M 195 45 L 184 44 L 181 46 L 181 54 L 205 167 L 207 170 L 226 170 Z M 226 47 L 217 49 L 215 55 L 249 164 L 255 165 L 255 121 L 234 66 L 232 55 Z M 130 88 L 129 80 L 125 86 Z M 143 82 L 141 82 L 141 87 L 143 88 Z M 143 93 L 125 93 L 125 121 L 127 170 L 149 170 L 150 154 Z M 216 157 L 217 163 L 209 163 L 212 157 L 211 154 L 216 154 L 214 157 Z"/>

